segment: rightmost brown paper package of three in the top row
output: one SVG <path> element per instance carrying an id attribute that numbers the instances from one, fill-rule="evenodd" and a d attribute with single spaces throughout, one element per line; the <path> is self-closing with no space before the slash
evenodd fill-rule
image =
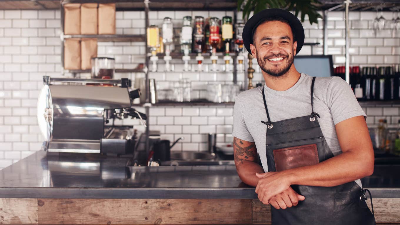
<path id="1" fill-rule="evenodd" d="M 99 34 L 115 34 L 115 3 L 99 4 Z"/>

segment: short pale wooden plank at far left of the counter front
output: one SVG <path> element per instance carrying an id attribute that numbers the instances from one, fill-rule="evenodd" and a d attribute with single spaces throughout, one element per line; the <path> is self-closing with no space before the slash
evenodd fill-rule
<path id="1" fill-rule="evenodd" d="M 0 199 L 0 224 L 38 224 L 38 199 Z"/>

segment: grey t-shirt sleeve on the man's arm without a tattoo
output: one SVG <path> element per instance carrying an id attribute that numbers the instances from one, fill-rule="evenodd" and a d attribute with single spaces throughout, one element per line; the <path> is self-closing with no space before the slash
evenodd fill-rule
<path id="1" fill-rule="evenodd" d="M 326 97 L 335 125 L 352 117 L 367 117 L 350 85 L 340 77 L 332 78 Z"/>

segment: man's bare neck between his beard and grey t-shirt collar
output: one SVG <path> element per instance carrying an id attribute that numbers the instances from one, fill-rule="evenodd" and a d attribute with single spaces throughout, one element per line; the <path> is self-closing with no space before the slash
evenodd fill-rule
<path id="1" fill-rule="evenodd" d="M 262 76 L 264 76 L 265 84 L 272 90 L 284 91 L 291 88 L 300 79 L 301 74 L 297 72 L 294 65 L 290 67 L 288 72 L 282 76 L 272 76 L 264 71 L 262 71 Z"/>

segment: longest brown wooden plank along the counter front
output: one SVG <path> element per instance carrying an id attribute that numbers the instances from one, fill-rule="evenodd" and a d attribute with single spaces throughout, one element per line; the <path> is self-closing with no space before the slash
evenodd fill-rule
<path id="1" fill-rule="evenodd" d="M 38 224 L 250 224 L 251 199 L 38 199 Z"/>

